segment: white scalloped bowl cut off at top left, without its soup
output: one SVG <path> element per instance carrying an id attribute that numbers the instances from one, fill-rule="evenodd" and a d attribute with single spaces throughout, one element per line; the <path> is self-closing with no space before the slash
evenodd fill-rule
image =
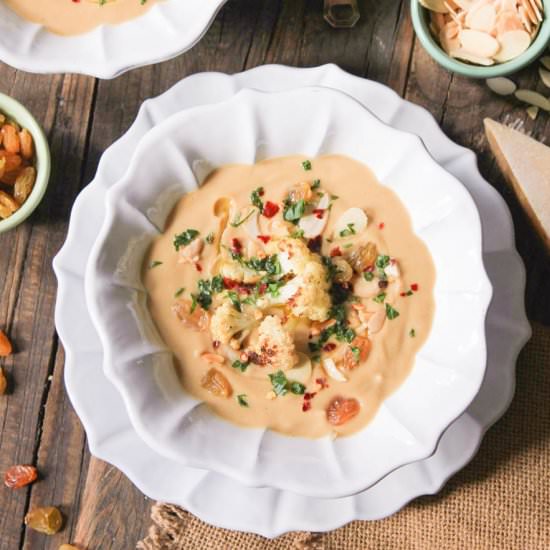
<path id="1" fill-rule="evenodd" d="M 32 73 L 114 78 L 192 48 L 225 2 L 166 0 L 155 4 L 142 17 L 120 25 L 102 25 L 77 36 L 53 34 L 21 19 L 0 2 L 0 59 Z"/>

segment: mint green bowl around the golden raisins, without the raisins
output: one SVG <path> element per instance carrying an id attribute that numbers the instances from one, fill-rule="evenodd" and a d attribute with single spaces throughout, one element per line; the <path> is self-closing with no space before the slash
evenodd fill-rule
<path id="1" fill-rule="evenodd" d="M 21 208 L 5 220 L 0 220 L 0 233 L 9 231 L 25 221 L 40 204 L 50 180 L 51 160 L 48 140 L 36 119 L 18 101 L 0 93 L 0 112 L 26 128 L 33 137 L 36 152 L 36 181 Z"/>

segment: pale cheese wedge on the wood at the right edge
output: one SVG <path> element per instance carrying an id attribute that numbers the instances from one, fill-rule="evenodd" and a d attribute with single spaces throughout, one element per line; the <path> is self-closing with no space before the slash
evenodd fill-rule
<path id="1" fill-rule="evenodd" d="M 500 169 L 550 249 L 550 147 L 490 118 L 484 124 Z"/>

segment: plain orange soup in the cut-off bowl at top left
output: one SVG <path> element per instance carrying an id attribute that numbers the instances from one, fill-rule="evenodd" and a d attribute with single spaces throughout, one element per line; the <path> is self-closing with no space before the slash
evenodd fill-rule
<path id="1" fill-rule="evenodd" d="M 83 34 L 103 24 L 143 15 L 159 0 L 4 0 L 23 19 L 61 35 Z"/>

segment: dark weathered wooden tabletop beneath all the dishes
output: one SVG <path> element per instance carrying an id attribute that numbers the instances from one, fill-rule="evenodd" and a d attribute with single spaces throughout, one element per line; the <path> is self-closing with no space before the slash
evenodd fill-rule
<path id="1" fill-rule="evenodd" d="M 91 181 L 102 152 L 126 131 L 143 100 L 192 73 L 332 62 L 426 107 L 452 139 L 479 154 L 482 173 L 505 196 L 527 263 L 530 318 L 548 323 L 548 256 L 502 183 L 482 133 L 483 117 L 509 117 L 536 137 L 550 138 L 548 115 L 533 122 L 524 107 L 492 95 L 482 82 L 439 68 L 415 40 L 408 0 L 359 3 L 362 19 L 356 28 L 334 30 L 322 19 L 321 0 L 231 0 L 192 51 L 111 81 L 30 75 L 0 64 L 0 91 L 37 116 L 54 162 L 40 208 L 23 226 L 0 236 L 0 328 L 16 346 L 15 355 L 0 360 L 10 380 L 10 394 L 0 397 L 0 471 L 34 463 L 42 475 L 27 489 L 0 488 L 2 549 L 57 549 L 69 541 L 90 550 L 133 548 L 150 523 L 151 502 L 116 469 L 90 457 L 65 393 L 51 266 L 74 199 Z M 533 68 L 515 78 L 528 87 L 538 83 Z M 26 530 L 26 511 L 50 504 L 61 507 L 65 529 L 54 537 Z"/>

